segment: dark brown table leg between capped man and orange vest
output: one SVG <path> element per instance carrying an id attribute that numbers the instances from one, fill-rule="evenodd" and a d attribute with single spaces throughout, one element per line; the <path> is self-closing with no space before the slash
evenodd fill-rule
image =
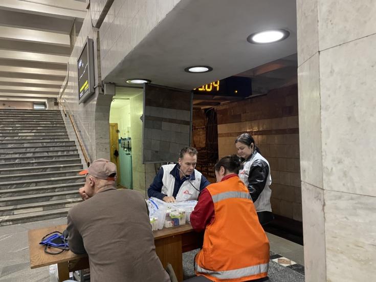
<path id="1" fill-rule="evenodd" d="M 154 241 L 154 243 L 163 267 L 166 268 L 167 263 L 170 263 L 178 281 L 183 281 L 182 236 L 165 237 Z"/>

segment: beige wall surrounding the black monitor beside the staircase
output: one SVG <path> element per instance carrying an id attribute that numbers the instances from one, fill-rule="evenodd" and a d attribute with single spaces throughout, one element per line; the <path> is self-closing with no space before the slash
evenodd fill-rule
<path id="1" fill-rule="evenodd" d="M 68 76 L 65 78 L 59 97 L 65 110 L 74 116 L 87 153 L 91 161 L 94 161 L 99 158 L 109 159 L 108 121 L 112 96 L 103 95 L 101 88 L 97 87 L 89 99 L 84 103 L 78 103 L 77 59 L 87 36 L 94 41 L 95 84 L 101 83 L 98 31 L 92 28 L 90 13 L 88 13 L 69 59 Z"/>

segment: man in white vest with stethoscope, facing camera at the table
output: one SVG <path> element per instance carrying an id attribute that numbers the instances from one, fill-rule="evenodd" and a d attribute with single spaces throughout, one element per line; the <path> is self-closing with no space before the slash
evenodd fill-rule
<path id="1" fill-rule="evenodd" d="M 167 203 L 197 200 L 200 191 L 210 182 L 195 169 L 197 150 L 184 147 L 177 164 L 162 165 L 147 194 Z"/>

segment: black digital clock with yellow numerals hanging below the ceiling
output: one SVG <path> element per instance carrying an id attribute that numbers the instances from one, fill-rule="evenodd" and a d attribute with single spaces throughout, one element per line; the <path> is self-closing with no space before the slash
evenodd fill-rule
<path id="1" fill-rule="evenodd" d="M 251 78 L 230 76 L 195 88 L 193 94 L 248 97 L 252 95 Z"/>

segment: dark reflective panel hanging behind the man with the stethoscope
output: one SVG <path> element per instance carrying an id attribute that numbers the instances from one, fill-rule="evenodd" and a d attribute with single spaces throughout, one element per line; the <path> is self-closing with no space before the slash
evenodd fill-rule
<path id="1" fill-rule="evenodd" d="M 192 92 L 144 84 L 143 163 L 176 162 L 190 145 Z"/>

